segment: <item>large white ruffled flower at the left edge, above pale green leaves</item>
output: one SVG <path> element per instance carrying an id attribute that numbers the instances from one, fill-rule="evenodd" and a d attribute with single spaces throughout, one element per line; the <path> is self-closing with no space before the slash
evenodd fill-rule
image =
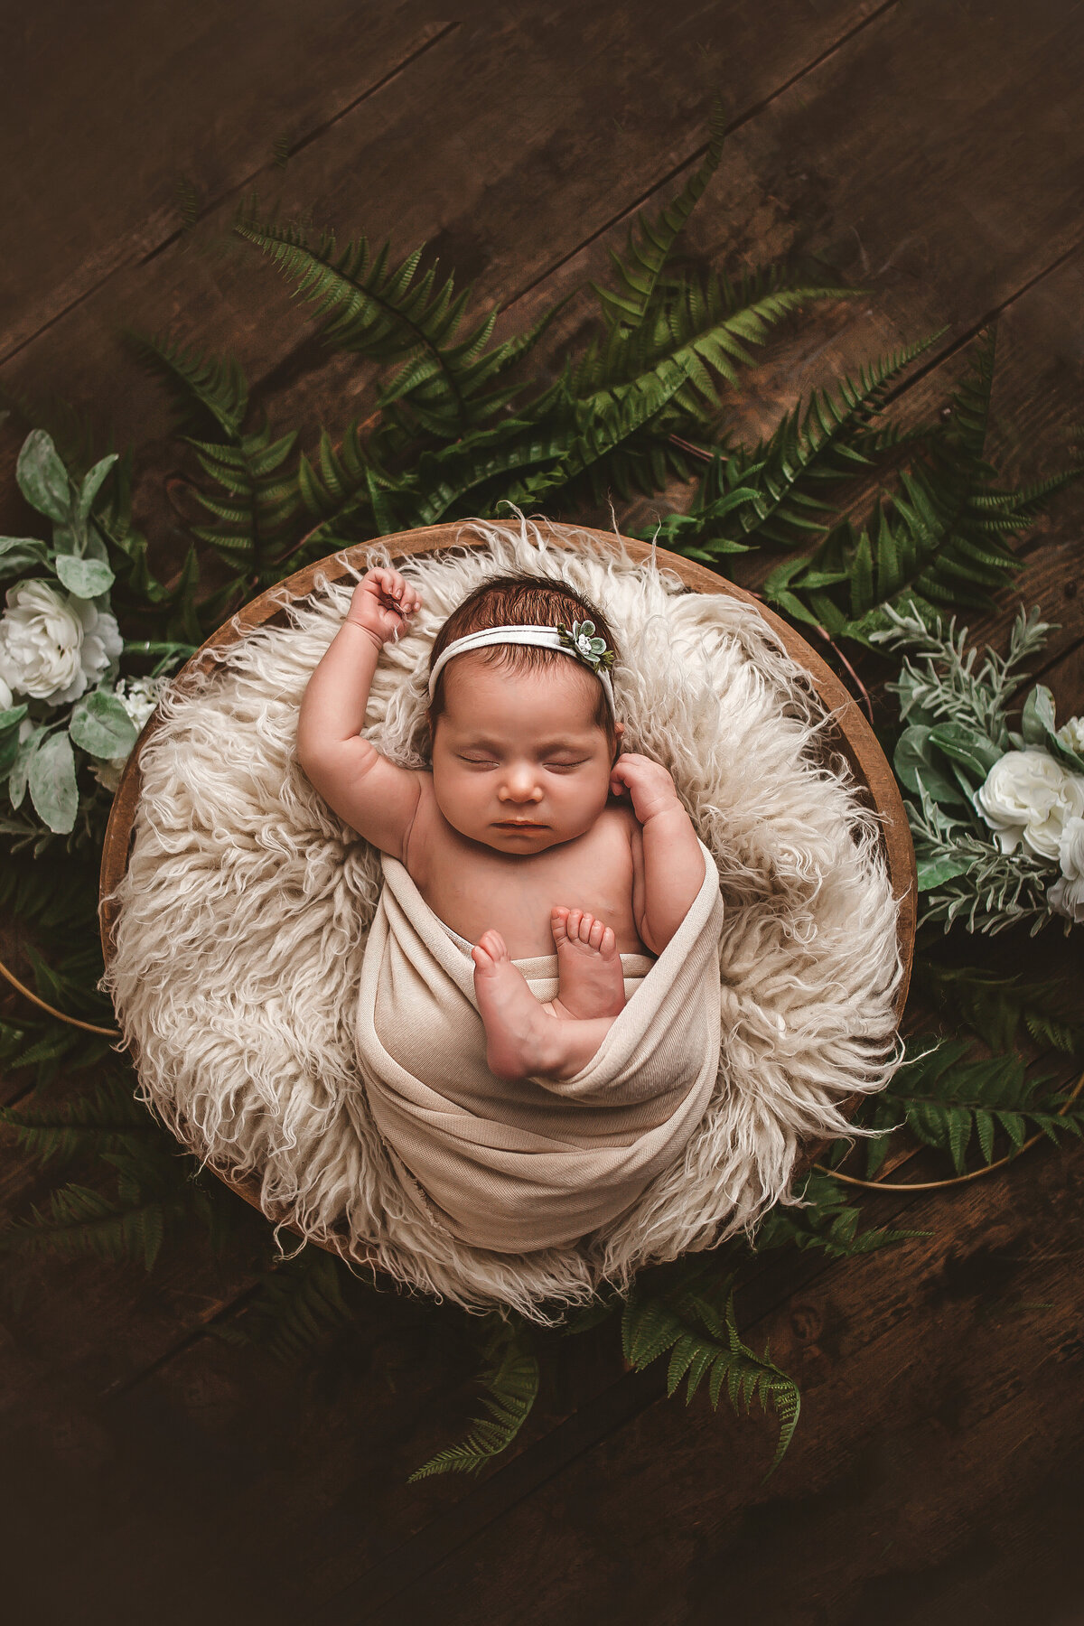
<path id="1" fill-rule="evenodd" d="M 78 701 L 124 649 L 114 616 L 88 598 L 57 592 L 49 582 L 20 582 L 7 597 L 0 678 L 20 694 L 54 706 Z"/>

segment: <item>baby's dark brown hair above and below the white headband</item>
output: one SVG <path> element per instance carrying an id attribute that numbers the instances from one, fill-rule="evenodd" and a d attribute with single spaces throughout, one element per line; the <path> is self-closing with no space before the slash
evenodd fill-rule
<path id="1" fill-rule="evenodd" d="M 609 631 L 605 615 L 598 610 L 590 598 L 583 598 L 566 582 L 554 582 L 548 576 L 530 576 L 522 572 L 518 576 L 492 576 L 481 587 L 476 587 L 468 598 L 458 605 L 452 615 L 447 618 L 440 631 L 437 633 L 432 650 L 429 654 L 429 670 L 432 672 L 436 662 L 439 660 L 442 650 L 455 637 L 466 637 L 468 633 L 481 633 L 484 628 L 491 626 L 567 626 L 572 628 L 574 621 L 593 621 L 595 633 L 598 637 L 606 639 L 606 647 L 616 652 L 614 636 Z M 538 649 L 533 644 L 491 644 L 488 649 L 479 649 L 475 654 L 481 655 L 483 660 L 505 667 L 518 667 L 527 670 L 538 670 L 540 667 L 551 667 L 554 660 L 569 663 L 570 657 L 561 654 L 559 649 Z M 437 725 L 437 717 L 444 711 L 444 673 L 447 667 L 440 672 L 437 678 L 437 686 L 429 706 L 429 738 Z M 609 704 L 606 702 L 606 691 L 601 683 L 592 678 L 593 686 L 598 689 L 598 704 L 595 707 L 593 722 L 603 730 L 609 740 L 611 753 L 618 750 L 618 737 L 614 732 L 614 720 L 609 715 Z"/>

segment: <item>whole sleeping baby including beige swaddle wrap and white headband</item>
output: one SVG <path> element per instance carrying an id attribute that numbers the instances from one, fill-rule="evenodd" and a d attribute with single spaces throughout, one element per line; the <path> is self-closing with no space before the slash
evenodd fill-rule
<path id="1" fill-rule="evenodd" d="M 429 657 L 431 767 L 361 737 L 419 608 L 371 569 L 306 689 L 297 759 L 382 854 L 358 1059 L 408 1198 L 494 1252 L 613 1221 L 679 1154 L 720 1049 L 715 862 L 666 769 L 622 753 L 603 615 L 491 577 Z"/>

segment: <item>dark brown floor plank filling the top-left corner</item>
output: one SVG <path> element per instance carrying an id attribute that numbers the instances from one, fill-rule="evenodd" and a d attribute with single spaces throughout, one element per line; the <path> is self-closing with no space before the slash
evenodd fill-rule
<path id="1" fill-rule="evenodd" d="M 8 13 L 18 254 L 0 267 L 0 354 L 267 174 L 276 145 L 288 163 L 359 106 L 447 29 L 426 10 L 392 0 L 362 20 L 349 0 L 39 0 Z"/>

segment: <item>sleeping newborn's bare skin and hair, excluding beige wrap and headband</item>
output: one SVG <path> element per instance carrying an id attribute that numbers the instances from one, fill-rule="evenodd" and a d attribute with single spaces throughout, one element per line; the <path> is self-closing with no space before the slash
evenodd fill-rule
<path id="1" fill-rule="evenodd" d="M 359 735 L 369 686 L 380 649 L 419 603 L 398 571 L 372 569 L 359 582 L 306 691 L 297 759 L 335 811 L 398 859 L 432 912 L 473 943 L 492 1073 L 566 1080 L 624 1008 L 621 954 L 660 954 L 686 917 L 704 881 L 700 842 L 666 769 L 621 754 L 603 616 L 544 579 L 488 582 L 442 628 L 431 663 L 432 771 L 380 756 Z M 510 620 L 553 628 L 551 646 L 491 636 Z M 582 623 L 590 633 L 562 646 L 557 624 Z M 484 642 L 455 647 L 478 629 Z M 554 948 L 557 997 L 538 1002 L 514 961 Z"/>

